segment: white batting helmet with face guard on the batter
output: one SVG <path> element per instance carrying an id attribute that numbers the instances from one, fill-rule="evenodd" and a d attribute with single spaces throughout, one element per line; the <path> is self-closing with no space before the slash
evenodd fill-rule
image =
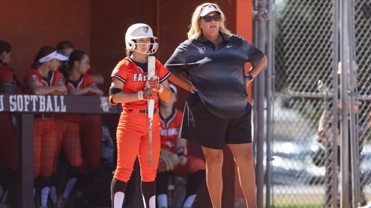
<path id="1" fill-rule="evenodd" d="M 135 39 L 139 38 L 151 38 L 151 43 L 136 43 Z M 146 44 L 151 45 L 150 49 L 147 52 L 142 52 L 140 49 L 137 51 L 139 53 L 143 54 L 153 54 L 157 51 L 158 43 L 156 43 L 155 39 L 157 39 L 155 36 L 153 36 L 152 28 L 148 26 L 147 24 L 133 24 L 128 28 L 128 31 L 125 34 L 125 43 L 126 47 L 133 51 L 135 50 L 136 44 Z"/>

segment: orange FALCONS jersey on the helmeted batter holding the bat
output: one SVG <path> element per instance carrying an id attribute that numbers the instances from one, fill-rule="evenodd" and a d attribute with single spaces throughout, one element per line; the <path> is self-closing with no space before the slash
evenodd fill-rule
<path id="1" fill-rule="evenodd" d="M 170 72 L 156 59 L 155 62 L 155 75 L 158 81 L 161 83 L 165 81 L 169 76 Z M 120 61 L 115 69 L 112 71 L 111 78 L 114 77 L 125 83 L 124 93 L 138 93 L 144 90 L 145 82 L 147 81 L 147 72 L 144 72 L 141 68 L 135 65 L 129 58 L 124 58 Z M 158 106 L 158 97 L 155 100 L 155 108 Z M 140 100 L 132 103 L 123 103 L 122 108 L 124 109 L 147 109 L 147 101 Z"/>

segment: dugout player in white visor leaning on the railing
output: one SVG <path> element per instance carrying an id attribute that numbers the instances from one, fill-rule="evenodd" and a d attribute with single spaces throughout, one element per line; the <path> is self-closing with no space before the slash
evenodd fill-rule
<path id="1" fill-rule="evenodd" d="M 27 70 L 24 76 L 24 94 L 67 94 L 63 76 L 58 71 L 60 61 L 65 61 L 67 58 L 53 47 L 42 47 L 31 69 Z M 57 135 L 53 114 L 35 114 L 34 118 L 34 195 L 36 191 L 37 195 L 40 194 L 41 207 L 46 208 L 56 154 Z"/>

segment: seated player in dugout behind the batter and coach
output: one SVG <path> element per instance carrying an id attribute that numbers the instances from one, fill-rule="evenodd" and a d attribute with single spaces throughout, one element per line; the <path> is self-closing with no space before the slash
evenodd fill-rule
<path id="1" fill-rule="evenodd" d="M 177 88 L 169 84 L 171 99 L 159 100 L 161 153 L 156 176 L 158 208 L 167 208 L 169 175 L 188 177 L 182 208 L 191 208 L 202 181 L 205 180 L 205 162 L 198 157 L 187 155 L 187 140 L 178 137 L 183 113 L 174 108 Z"/>

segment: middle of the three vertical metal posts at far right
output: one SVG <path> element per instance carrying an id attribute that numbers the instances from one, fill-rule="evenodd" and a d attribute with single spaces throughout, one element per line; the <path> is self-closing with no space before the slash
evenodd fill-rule
<path id="1" fill-rule="evenodd" d="M 341 199 L 340 207 L 348 207 L 349 192 L 349 111 L 348 111 L 348 0 L 342 0 L 341 7 Z"/>

